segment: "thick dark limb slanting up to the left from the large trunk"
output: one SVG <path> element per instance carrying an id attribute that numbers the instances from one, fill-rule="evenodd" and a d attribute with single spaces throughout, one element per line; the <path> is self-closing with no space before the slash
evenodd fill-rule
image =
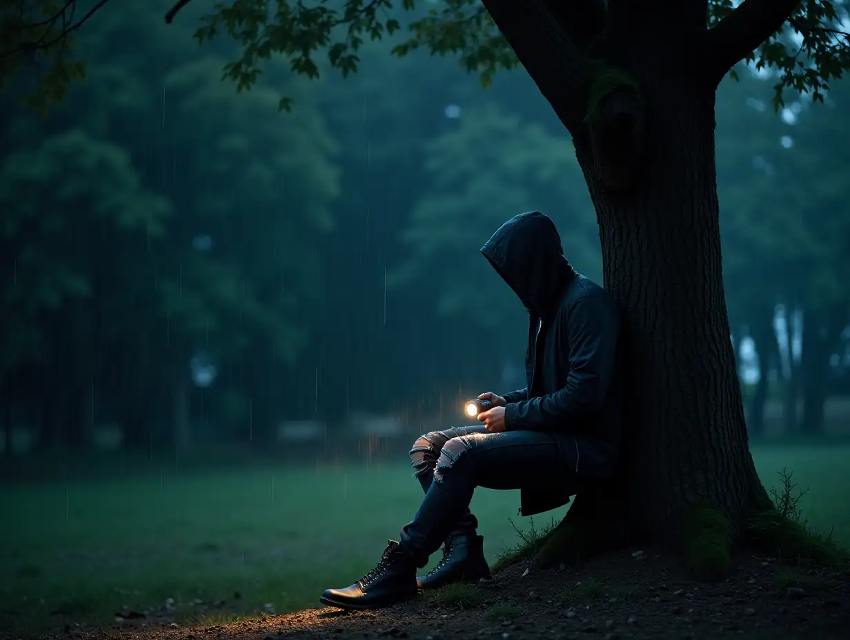
<path id="1" fill-rule="evenodd" d="M 575 135 L 587 105 L 590 60 L 570 38 L 547 0 L 482 0 L 502 36 L 513 48 L 543 97 L 553 106 L 564 127 Z M 573 24 L 571 31 L 590 31 Z"/>

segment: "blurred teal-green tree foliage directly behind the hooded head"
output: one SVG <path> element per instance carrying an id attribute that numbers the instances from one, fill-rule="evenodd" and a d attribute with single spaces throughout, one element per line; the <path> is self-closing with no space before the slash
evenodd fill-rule
<path id="1" fill-rule="evenodd" d="M 439 315 L 487 331 L 484 343 L 524 348 L 522 305 L 478 250 L 513 212 L 537 208 L 558 224 L 567 258 L 589 276 L 602 275 L 592 203 L 564 142 L 492 105 L 464 110 L 456 129 L 424 145 L 428 181 L 390 284 L 416 286 L 433 297 Z"/>

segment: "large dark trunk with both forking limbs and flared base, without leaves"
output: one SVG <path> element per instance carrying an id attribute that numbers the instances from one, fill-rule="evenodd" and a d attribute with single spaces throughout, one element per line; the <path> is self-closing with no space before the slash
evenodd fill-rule
<path id="1" fill-rule="evenodd" d="M 748 446 L 723 293 L 715 95 L 796 2 L 747 0 L 711 31 L 698 0 L 484 6 L 572 133 L 604 286 L 624 319 L 621 478 L 580 491 L 537 562 L 644 541 L 684 547 L 706 577 L 722 573 L 771 503 Z M 702 553 L 706 535 L 723 551 Z"/>

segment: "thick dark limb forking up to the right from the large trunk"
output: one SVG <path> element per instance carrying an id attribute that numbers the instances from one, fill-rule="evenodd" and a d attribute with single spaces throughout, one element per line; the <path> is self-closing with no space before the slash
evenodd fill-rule
<path id="1" fill-rule="evenodd" d="M 800 0 L 744 0 L 708 32 L 706 58 L 714 80 L 782 28 Z"/>

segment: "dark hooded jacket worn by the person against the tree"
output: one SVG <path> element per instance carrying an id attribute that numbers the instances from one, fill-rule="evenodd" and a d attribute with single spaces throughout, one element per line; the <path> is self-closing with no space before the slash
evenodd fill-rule
<path id="1" fill-rule="evenodd" d="M 615 473 L 623 407 L 620 314 L 602 287 L 570 266 L 555 224 L 540 212 L 502 224 L 481 252 L 530 314 L 528 386 L 505 395 L 506 428 L 553 432 L 572 472 L 560 487 L 531 479 L 520 512 L 534 515 L 566 504 L 582 477 Z"/>

